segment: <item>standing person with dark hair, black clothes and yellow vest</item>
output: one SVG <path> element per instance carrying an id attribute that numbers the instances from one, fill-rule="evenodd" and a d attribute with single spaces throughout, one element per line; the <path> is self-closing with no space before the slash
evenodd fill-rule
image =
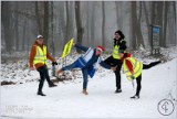
<path id="1" fill-rule="evenodd" d="M 119 52 L 124 52 L 126 50 L 126 41 L 124 40 L 125 35 L 121 30 L 115 32 L 113 52 L 110 57 L 107 57 L 104 62 L 110 66 L 116 66 L 115 78 L 116 78 L 116 90 L 115 93 L 122 93 L 121 87 L 121 68 L 122 61 L 118 56 Z"/>

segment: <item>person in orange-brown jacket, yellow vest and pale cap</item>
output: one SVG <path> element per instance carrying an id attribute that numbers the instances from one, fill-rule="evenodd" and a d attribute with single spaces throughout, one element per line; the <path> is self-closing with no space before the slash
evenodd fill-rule
<path id="1" fill-rule="evenodd" d="M 38 35 L 35 42 L 31 48 L 29 64 L 30 64 L 31 71 L 34 71 L 34 67 L 33 67 L 33 65 L 34 65 L 37 71 L 40 74 L 41 79 L 40 79 L 40 84 L 39 84 L 39 88 L 38 88 L 38 93 L 37 93 L 37 95 L 40 95 L 40 96 L 45 96 L 42 93 L 43 83 L 44 83 L 45 78 L 49 84 L 49 87 L 56 86 L 50 80 L 48 68 L 46 68 L 46 58 L 52 61 L 53 66 L 58 65 L 55 60 L 49 54 L 46 46 L 43 44 L 43 36 Z"/>

